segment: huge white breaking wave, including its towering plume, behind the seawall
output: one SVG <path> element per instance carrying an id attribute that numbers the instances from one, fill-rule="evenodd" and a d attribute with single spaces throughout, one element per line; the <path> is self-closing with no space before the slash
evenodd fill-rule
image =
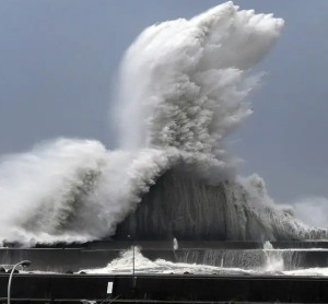
<path id="1" fill-rule="evenodd" d="M 251 68 L 282 26 L 271 14 L 227 2 L 143 31 L 121 62 L 113 110 L 119 149 L 59 139 L 2 156 L 0 239 L 34 244 L 115 235 L 159 177 L 181 166 L 201 185 L 229 185 L 223 192 L 230 199 L 220 203 L 230 206 L 230 239 L 326 237 L 326 230 L 276 208 L 259 176 L 237 177 L 238 160 L 224 148 L 251 114 L 245 98 L 261 78 Z M 173 185 L 171 191 L 178 189 Z M 208 191 L 202 198 L 209 207 L 220 200 Z"/>

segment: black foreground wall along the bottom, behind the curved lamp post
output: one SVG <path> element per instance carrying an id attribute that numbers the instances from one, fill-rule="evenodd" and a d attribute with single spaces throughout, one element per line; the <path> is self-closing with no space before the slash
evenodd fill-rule
<path id="1" fill-rule="evenodd" d="M 0 297 L 7 297 L 8 276 L 0 274 Z M 328 279 L 297 277 L 42 276 L 16 274 L 13 299 L 249 301 L 328 303 Z M 134 288 L 133 288 L 134 287 Z"/>

